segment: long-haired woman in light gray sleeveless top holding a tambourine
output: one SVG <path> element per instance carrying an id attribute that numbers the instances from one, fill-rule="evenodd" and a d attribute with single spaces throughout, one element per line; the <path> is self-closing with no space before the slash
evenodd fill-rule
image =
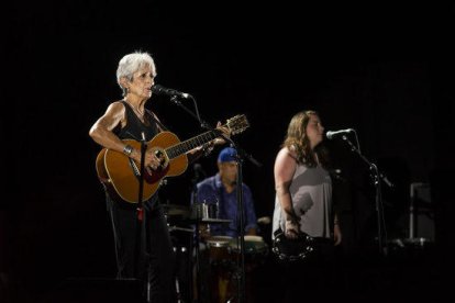
<path id="1" fill-rule="evenodd" d="M 334 246 L 342 240 L 332 205 L 332 180 L 328 150 L 321 144 L 324 127 L 314 111 L 291 119 L 275 160 L 276 200 L 273 238 L 278 232 L 296 239 L 303 232 L 315 238 L 314 256 L 281 263 L 284 293 L 280 302 L 322 298 L 333 281 Z"/>

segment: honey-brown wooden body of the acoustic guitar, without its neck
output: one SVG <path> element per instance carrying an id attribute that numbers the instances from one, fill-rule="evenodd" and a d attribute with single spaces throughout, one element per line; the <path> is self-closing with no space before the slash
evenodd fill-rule
<path id="1" fill-rule="evenodd" d="M 136 150 L 141 150 L 141 143 L 133 139 L 124 139 Z M 179 138 L 170 132 L 162 132 L 146 143 L 147 150 L 164 150 L 169 146 L 180 143 Z M 119 197 L 130 203 L 137 203 L 140 181 L 140 164 L 125 156 L 123 153 L 103 148 L 97 157 L 98 177 L 103 182 L 109 182 L 114 188 Z M 144 171 L 142 201 L 148 200 L 158 189 L 160 181 L 165 177 L 179 176 L 188 168 L 188 157 L 182 154 L 176 158 L 168 159 L 164 169 L 153 171 L 152 175 Z"/>

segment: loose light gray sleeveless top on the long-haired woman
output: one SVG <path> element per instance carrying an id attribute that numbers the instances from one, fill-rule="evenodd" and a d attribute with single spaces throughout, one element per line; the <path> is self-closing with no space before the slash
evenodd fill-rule
<path id="1" fill-rule="evenodd" d="M 300 229 L 312 237 L 331 237 L 332 180 L 321 166 L 298 165 L 290 186 L 293 210 L 300 216 Z M 285 231 L 285 212 L 275 197 L 273 235 Z"/>

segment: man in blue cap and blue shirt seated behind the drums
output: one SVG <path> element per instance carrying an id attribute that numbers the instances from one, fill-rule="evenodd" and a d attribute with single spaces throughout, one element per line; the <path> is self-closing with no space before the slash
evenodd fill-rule
<path id="1" fill-rule="evenodd" d="M 192 200 L 198 203 L 218 204 L 217 218 L 231 220 L 228 224 L 211 224 L 210 228 L 201 228 L 201 237 L 211 236 L 240 236 L 240 218 L 237 217 L 237 152 L 225 147 L 218 156 L 218 173 L 208 177 L 197 184 L 196 195 Z M 242 183 L 245 235 L 257 234 L 257 220 L 254 200 L 249 187 Z"/>

